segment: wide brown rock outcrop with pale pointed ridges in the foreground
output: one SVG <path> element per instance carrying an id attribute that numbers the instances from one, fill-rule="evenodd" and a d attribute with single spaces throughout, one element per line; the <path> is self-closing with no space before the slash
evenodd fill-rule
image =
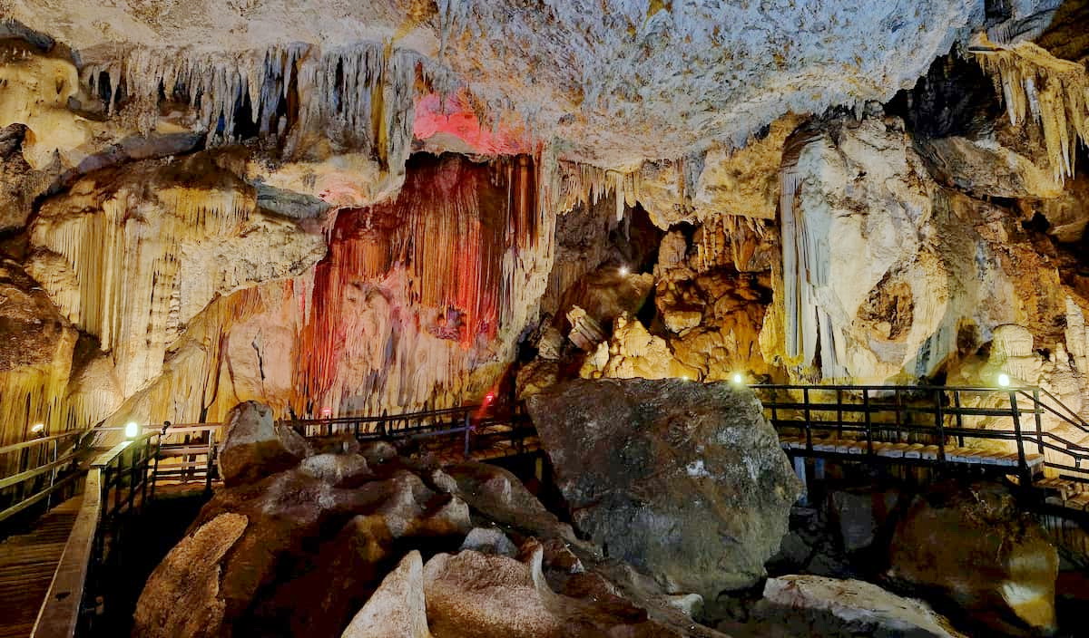
<path id="1" fill-rule="evenodd" d="M 259 406 L 235 412 L 252 417 L 235 447 L 272 430 Z M 148 580 L 133 636 L 721 638 L 601 562 L 505 470 L 315 447 L 217 491 Z"/>

